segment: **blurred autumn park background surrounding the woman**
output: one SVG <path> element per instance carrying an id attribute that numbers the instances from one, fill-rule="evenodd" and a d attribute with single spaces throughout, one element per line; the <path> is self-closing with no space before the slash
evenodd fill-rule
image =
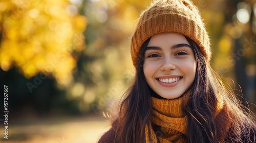
<path id="1" fill-rule="evenodd" d="M 1 116 L 0 142 L 96 142 L 109 129 L 102 112 L 135 74 L 130 37 L 150 2 L 1 0 L 0 80 L 8 86 L 9 132 L 5 139 Z M 226 82 L 233 79 L 237 93 L 241 86 L 242 102 L 255 112 L 255 1 L 193 2 L 209 32 L 212 68 Z"/>

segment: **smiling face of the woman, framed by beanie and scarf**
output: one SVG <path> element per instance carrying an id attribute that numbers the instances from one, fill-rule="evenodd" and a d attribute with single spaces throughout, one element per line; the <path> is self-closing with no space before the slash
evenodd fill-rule
<path id="1" fill-rule="evenodd" d="M 180 97 L 195 79 L 194 52 L 182 34 L 160 33 L 152 36 L 144 57 L 146 82 L 163 98 Z"/>

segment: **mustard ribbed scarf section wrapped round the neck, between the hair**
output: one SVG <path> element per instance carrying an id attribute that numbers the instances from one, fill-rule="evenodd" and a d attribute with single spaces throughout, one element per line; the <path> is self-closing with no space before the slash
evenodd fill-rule
<path id="1" fill-rule="evenodd" d="M 158 99 L 152 97 L 153 116 L 152 125 L 145 127 L 147 143 L 186 142 L 187 114 L 183 112 L 182 102 L 187 95 L 176 99 Z M 178 139 L 177 139 L 178 138 Z M 176 139 L 176 140 L 175 140 Z"/>

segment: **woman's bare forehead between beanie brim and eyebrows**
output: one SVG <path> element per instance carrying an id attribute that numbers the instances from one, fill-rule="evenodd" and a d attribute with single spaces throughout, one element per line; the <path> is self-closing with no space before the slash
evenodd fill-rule
<path id="1" fill-rule="evenodd" d="M 175 45 L 181 43 L 189 45 L 184 35 L 179 33 L 168 32 L 153 35 L 147 46 L 160 46 L 162 44 Z"/>

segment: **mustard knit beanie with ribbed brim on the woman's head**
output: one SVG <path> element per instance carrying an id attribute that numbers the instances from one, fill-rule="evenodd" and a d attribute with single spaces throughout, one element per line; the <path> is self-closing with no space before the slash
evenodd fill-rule
<path id="1" fill-rule="evenodd" d="M 177 32 L 195 41 L 206 61 L 211 58 L 210 40 L 198 9 L 189 0 L 155 1 L 143 11 L 131 41 L 133 65 L 143 43 L 158 33 Z"/>

